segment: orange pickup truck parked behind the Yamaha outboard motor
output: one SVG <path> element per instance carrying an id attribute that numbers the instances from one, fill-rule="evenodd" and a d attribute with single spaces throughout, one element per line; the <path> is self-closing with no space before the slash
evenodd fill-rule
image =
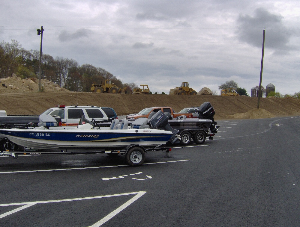
<path id="1" fill-rule="evenodd" d="M 140 118 L 140 117 L 148 118 L 150 113 L 152 113 L 152 112 L 156 113 L 158 111 L 162 111 L 163 113 L 169 112 L 173 116 L 173 118 L 176 118 L 176 117 L 179 117 L 179 116 L 182 116 L 182 115 L 186 116 L 187 118 L 193 118 L 192 113 L 175 113 L 173 108 L 164 106 L 164 107 L 146 108 L 138 114 L 135 114 L 135 115 L 130 114 L 130 115 L 126 116 L 126 119 L 137 119 L 137 118 Z"/>

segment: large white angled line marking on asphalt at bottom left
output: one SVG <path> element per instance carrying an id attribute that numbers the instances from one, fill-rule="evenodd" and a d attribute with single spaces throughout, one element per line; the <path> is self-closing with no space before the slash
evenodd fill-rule
<path id="1" fill-rule="evenodd" d="M 129 199 L 127 202 L 125 202 L 123 205 L 115 209 L 113 212 L 96 222 L 95 224 L 91 225 L 91 227 L 98 227 L 102 224 L 106 223 L 108 220 L 113 218 L 116 214 L 119 214 L 122 210 L 124 210 L 126 207 L 131 205 L 133 202 L 135 202 L 137 199 L 142 197 L 146 192 L 140 191 L 140 192 L 130 192 L 130 193 L 121 193 L 121 194 L 114 194 L 114 195 L 105 195 L 105 196 L 93 196 L 93 197 L 84 197 L 84 198 L 74 198 L 74 199 L 58 199 L 58 200 L 46 200 L 46 201 L 35 201 L 35 202 L 20 202 L 20 203 L 7 203 L 7 204 L 0 204 L 0 207 L 6 207 L 6 206 L 19 206 L 23 205 L 22 207 L 16 208 L 12 211 L 8 211 L 4 214 L 0 215 L 0 219 L 3 217 L 6 217 L 10 214 L 16 213 L 18 211 L 21 211 L 23 209 L 26 209 L 28 207 L 31 207 L 36 204 L 46 204 L 46 203 L 54 203 L 54 202 L 69 202 L 69 201 L 80 201 L 80 200 L 86 200 L 86 199 L 100 199 L 100 198 L 108 198 L 108 197 L 116 197 L 116 196 L 127 196 L 127 195 L 134 195 L 133 198 Z"/>

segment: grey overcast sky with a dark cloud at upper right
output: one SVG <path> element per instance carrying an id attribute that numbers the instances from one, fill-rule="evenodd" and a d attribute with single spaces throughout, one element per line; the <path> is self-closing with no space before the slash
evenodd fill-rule
<path id="1" fill-rule="evenodd" d="M 169 94 L 187 81 L 197 92 L 234 80 L 300 91 L 300 1 L 4 0 L 0 41 L 101 67 L 123 83 Z M 99 81 L 100 82 L 100 81 Z"/>

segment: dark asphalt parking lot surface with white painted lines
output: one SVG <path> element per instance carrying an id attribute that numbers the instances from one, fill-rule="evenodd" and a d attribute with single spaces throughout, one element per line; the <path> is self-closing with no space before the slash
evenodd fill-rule
<path id="1" fill-rule="evenodd" d="M 214 140 L 125 157 L 0 157 L 0 226 L 298 226 L 300 117 L 219 121 Z"/>

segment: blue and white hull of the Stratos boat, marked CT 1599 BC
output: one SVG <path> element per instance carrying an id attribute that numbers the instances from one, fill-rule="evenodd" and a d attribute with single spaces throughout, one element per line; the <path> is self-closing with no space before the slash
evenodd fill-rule
<path id="1" fill-rule="evenodd" d="M 125 148 L 130 144 L 166 144 L 172 133 L 157 129 L 51 130 L 1 129 L 0 133 L 20 146 L 36 149 Z"/>

